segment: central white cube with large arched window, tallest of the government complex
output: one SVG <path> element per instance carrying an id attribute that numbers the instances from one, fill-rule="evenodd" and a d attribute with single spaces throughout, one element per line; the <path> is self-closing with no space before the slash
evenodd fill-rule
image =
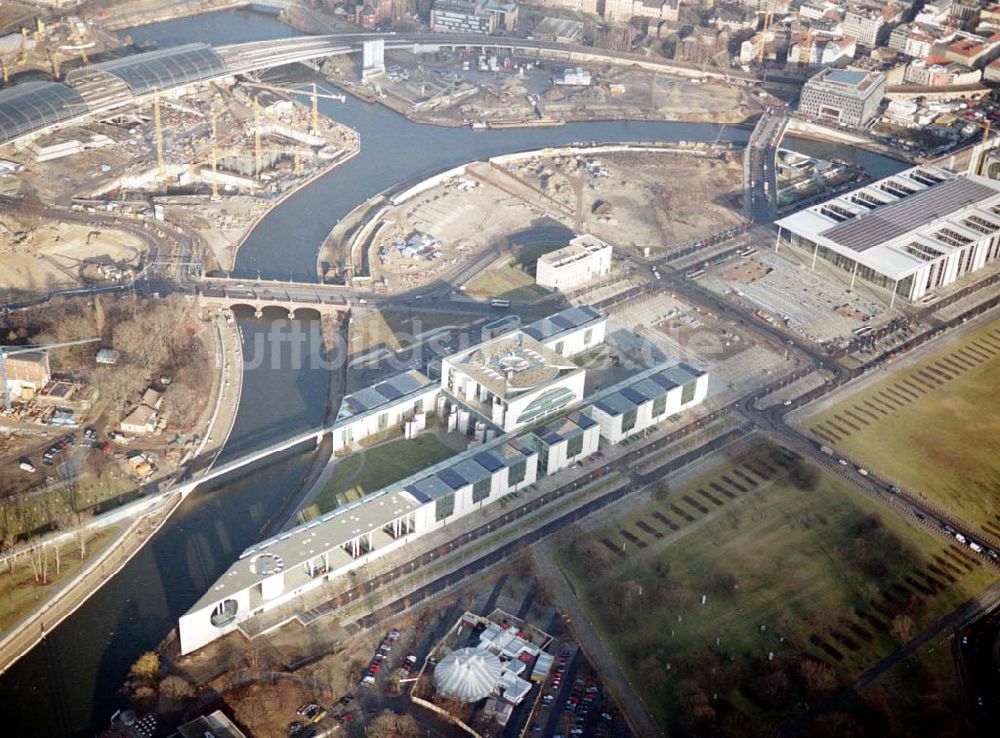
<path id="1" fill-rule="evenodd" d="M 524 331 L 441 362 L 441 387 L 447 395 L 477 420 L 508 432 L 579 402 L 583 386 L 580 367 Z"/>

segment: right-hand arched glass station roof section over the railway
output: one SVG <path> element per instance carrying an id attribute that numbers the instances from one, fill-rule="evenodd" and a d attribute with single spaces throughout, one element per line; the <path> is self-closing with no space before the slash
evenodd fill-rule
<path id="1" fill-rule="evenodd" d="M 225 62 L 208 44 L 185 44 L 169 49 L 94 64 L 129 86 L 134 95 L 176 87 L 226 73 Z"/>

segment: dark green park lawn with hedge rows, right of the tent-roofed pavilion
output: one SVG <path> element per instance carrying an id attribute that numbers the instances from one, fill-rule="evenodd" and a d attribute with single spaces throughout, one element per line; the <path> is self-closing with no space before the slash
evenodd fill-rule
<path id="1" fill-rule="evenodd" d="M 993 571 L 757 445 L 567 536 L 559 566 L 664 732 L 771 735 Z"/>

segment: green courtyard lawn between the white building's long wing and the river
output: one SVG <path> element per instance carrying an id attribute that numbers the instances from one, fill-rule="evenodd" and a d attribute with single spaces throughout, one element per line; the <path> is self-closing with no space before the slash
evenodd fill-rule
<path id="1" fill-rule="evenodd" d="M 428 432 L 413 440 L 396 438 L 345 456 L 336 461 L 333 474 L 313 504 L 303 511 L 303 516 L 309 520 L 322 515 L 458 452 L 459 449 Z"/>

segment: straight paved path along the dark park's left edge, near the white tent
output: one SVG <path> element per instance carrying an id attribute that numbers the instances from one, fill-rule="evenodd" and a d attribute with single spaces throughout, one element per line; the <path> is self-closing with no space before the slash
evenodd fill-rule
<path id="1" fill-rule="evenodd" d="M 649 716 L 628 677 L 618 666 L 615 657 L 604 645 L 600 634 L 590 624 L 586 614 L 577 605 L 576 595 L 570 589 L 563 573 L 555 565 L 555 552 L 552 551 L 551 542 L 543 541 L 534 546 L 531 557 L 535 562 L 538 578 L 552 594 L 553 599 L 559 603 L 558 607 L 566 616 L 577 643 L 600 673 L 608 691 L 614 695 L 633 732 L 640 738 L 659 735 L 656 723 Z"/>

